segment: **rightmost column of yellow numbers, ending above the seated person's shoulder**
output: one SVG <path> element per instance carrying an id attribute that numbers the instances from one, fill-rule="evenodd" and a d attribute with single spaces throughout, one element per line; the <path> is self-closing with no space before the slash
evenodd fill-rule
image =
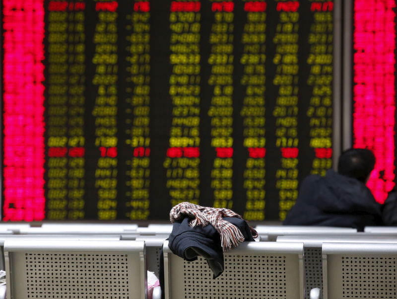
<path id="1" fill-rule="evenodd" d="M 313 23 L 308 38 L 307 84 L 313 86 L 313 92 L 306 115 L 310 123 L 310 147 L 316 155 L 311 173 L 324 176 L 332 166 L 333 3 L 312 2 L 310 8 Z"/>

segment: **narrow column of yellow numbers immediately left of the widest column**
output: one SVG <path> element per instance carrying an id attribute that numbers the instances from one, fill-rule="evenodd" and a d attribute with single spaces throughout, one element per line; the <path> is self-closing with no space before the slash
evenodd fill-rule
<path id="1" fill-rule="evenodd" d="M 126 144 L 132 147 L 132 159 L 126 161 L 131 166 L 130 180 L 127 181 L 131 191 L 126 194 L 129 198 L 126 206 L 131 212 L 126 216 L 144 220 L 149 216 L 150 187 L 150 2 L 135 1 L 132 15 L 127 18 L 131 20 L 127 29 L 132 30 L 127 37 L 130 42 L 127 70 L 131 74 L 127 81 L 131 82 L 131 87 L 126 90 L 132 95 L 127 99 L 131 103 L 127 112 L 132 114 L 132 127 L 127 132 L 130 138 Z M 126 121 L 131 122 L 130 119 Z"/>

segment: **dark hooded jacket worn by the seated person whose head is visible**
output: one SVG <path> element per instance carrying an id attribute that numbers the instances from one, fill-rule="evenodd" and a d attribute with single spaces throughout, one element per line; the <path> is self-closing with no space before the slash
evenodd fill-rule
<path id="1" fill-rule="evenodd" d="M 328 170 L 325 177 L 310 175 L 302 181 L 296 204 L 283 224 L 363 231 L 365 226 L 384 224 L 382 208 L 363 182 Z"/>

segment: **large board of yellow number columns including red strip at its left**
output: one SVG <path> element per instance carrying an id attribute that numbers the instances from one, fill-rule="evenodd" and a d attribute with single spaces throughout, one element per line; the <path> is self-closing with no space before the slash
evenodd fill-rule
<path id="1" fill-rule="evenodd" d="M 283 220 L 331 168 L 333 1 L 2 5 L 4 220 Z"/>

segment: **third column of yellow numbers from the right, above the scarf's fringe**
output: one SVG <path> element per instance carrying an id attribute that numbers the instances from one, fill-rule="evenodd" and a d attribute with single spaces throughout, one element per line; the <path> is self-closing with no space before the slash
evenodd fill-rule
<path id="1" fill-rule="evenodd" d="M 244 147 L 249 157 L 244 170 L 247 203 L 244 219 L 265 219 L 265 29 L 266 2 L 246 2 L 247 23 L 242 35 L 244 65 L 241 84 L 246 86 L 243 108 Z"/>

